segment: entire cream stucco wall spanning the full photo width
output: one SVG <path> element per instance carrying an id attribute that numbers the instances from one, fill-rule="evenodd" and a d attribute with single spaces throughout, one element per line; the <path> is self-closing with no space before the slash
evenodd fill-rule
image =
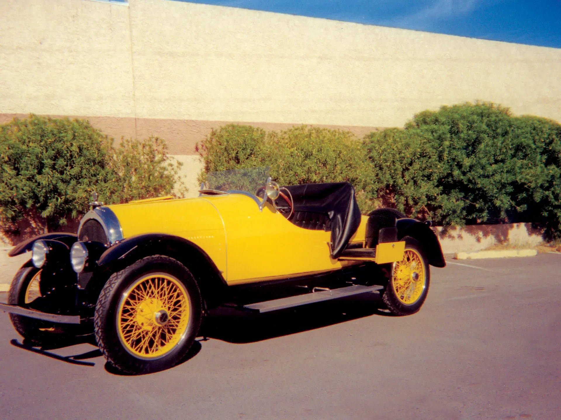
<path id="1" fill-rule="evenodd" d="M 0 114 L 165 133 L 177 154 L 216 122 L 399 127 L 477 99 L 561 120 L 561 49 L 170 0 L 3 0 L 0 34 Z"/>

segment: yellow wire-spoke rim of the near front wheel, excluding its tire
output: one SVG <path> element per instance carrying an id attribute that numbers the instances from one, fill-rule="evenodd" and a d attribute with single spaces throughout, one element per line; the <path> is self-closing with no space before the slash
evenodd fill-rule
<path id="1" fill-rule="evenodd" d="M 142 359 L 157 359 L 185 337 L 190 314 L 190 297 L 183 283 L 168 274 L 150 273 L 123 293 L 117 334 L 127 352 Z"/>

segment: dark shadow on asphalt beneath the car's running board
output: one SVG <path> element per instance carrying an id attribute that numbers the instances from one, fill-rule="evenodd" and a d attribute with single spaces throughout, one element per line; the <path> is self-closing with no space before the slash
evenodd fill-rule
<path id="1" fill-rule="evenodd" d="M 219 307 L 211 310 L 203 319 L 199 335 L 203 340 L 214 338 L 228 343 L 254 343 L 371 315 L 393 316 L 385 310 L 376 293 L 363 293 L 264 314 Z"/>

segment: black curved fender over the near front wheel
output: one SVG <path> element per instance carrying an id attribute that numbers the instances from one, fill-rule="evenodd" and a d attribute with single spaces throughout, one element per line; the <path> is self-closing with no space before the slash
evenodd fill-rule
<path id="1" fill-rule="evenodd" d="M 107 274 L 118 272 L 150 255 L 169 256 L 185 265 L 195 277 L 203 299 L 209 306 L 222 300 L 227 291 L 222 273 L 203 249 L 182 237 L 165 234 L 132 236 L 113 245 L 97 261 L 98 270 L 106 275 L 95 277 L 107 281 Z M 94 284 L 92 286 L 95 287 Z"/>

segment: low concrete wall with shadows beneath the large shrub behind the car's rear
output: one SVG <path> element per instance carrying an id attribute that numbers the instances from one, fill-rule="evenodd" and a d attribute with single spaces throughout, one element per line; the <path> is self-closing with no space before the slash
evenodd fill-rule
<path id="1" fill-rule="evenodd" d="M 465 227 L 436 227 L 445 254 L 481 251 L 493 245 L 513 248 L 532 248 L 543 241 L 543 229 L 532 223 L 505 225 L 475 225 Z"/>

